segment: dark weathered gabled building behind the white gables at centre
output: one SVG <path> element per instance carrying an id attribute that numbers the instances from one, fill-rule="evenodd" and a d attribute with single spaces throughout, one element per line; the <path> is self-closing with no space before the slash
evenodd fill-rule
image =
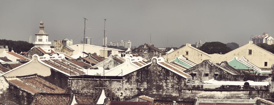
<path id="1" fill-rule="evenodd" d="M 146 50 L 147 52 L 144 52 L 144 50 Z M 129 52 L 127 52 L 127 54 L 138 54 L 139 56 L 141 56 L 142 58 L 145 59 L 151 59 L 153 57 L 160 57 L 161 53 L 158 52 L 157 50 L 151 49 L 147 46 L 147 44 L 145 44 L 142 47 L 138 47 L 136 49 L 133 49 Z"/>

